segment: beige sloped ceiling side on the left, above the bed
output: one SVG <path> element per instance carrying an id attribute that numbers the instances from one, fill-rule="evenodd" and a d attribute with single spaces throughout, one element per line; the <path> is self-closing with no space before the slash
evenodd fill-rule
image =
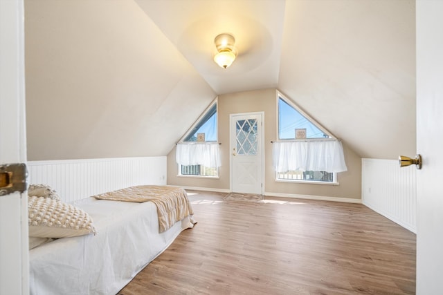
<path id="1" fill-rule="evenodd" d="M 25 8 L 28 160 L 167 155 L 216 97 L 134 1 Z"/>

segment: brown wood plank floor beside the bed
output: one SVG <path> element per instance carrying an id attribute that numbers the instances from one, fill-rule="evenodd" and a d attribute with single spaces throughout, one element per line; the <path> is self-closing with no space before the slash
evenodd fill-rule
<path id="1" fill-rule="evenodd" d="M 362 204 L 188 195 L 197 225 L 120 295 L 415 294 L 415 234 Z"/>

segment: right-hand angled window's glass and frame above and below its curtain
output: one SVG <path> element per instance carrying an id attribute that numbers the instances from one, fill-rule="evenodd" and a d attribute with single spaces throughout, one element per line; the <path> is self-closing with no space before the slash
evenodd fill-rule
<path id="1" fill-rule="evenodd" d="M 301 131 L 301 133 L 300 133 Z M 297 106 L 278 95 L 278 139 L 280 141 L 318 141 L 333 139 Z M 336 183 L 336 173 L 303 169 L 276 172 L 276 179 L 294 182 Z"/>

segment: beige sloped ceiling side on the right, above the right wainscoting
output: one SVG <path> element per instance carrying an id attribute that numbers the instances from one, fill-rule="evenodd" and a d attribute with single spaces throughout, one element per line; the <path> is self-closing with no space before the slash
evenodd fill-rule
<path id="1" fill-rule="evenodd" d="M 415 155 L 415 1 L 287 1 L 278 88 L 363 158 Z"/>

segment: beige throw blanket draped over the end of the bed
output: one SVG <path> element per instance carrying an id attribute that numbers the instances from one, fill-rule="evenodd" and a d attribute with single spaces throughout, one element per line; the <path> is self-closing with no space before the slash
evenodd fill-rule
<path id="1" fill-rule="evenodd" d="M 194 214 L 186 191 L 179 187 L 140 185 L 109 191 L 96 195 L 94 198 L 123 202 L 154 202 L 159 216 L 160 232 L 170 229 L 175 222 L 186 216 L 192 217 Z M 192 218 L 191 222 L 195 223 Z"/>

